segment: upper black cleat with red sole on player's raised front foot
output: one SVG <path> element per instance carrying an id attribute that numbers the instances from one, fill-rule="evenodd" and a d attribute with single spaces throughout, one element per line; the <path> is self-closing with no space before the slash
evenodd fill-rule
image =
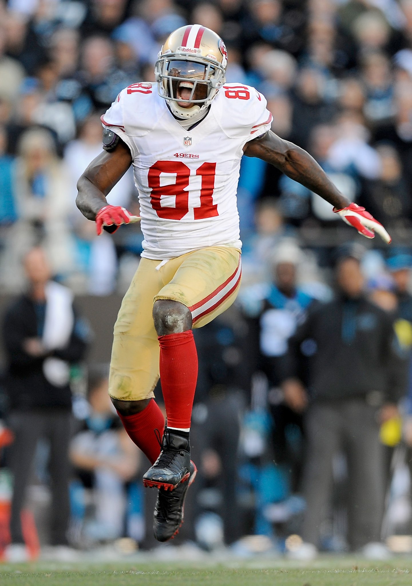
<path id="1" fill-rule="evenodd" d="M 143 476 L 143 486 L 173 490 L 190 476 L 189 438 L 165 429 L 162 450 L 154 465 Z"/>

